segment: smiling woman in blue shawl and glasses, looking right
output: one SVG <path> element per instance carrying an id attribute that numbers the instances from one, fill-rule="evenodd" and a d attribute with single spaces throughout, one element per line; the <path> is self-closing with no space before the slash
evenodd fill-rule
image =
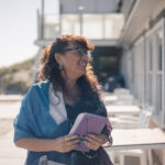
<path id="1" fill-rule="evenodd" d="M 107 127 L 99 135 L 86 136 L 88 154 L 74 151 L 79 139 L 68 135 L 80 112 L 107 116 L 89 64 L 92 50 L 82 36 L 63 35 L 43 51 L 40 82 L 29 89 L 14 120 L 14 143 L 29 151 L 26 165 L 68 165 L 89 157 L 89 164 L 98 164 L 97 151 L 110 140 Z"/>

